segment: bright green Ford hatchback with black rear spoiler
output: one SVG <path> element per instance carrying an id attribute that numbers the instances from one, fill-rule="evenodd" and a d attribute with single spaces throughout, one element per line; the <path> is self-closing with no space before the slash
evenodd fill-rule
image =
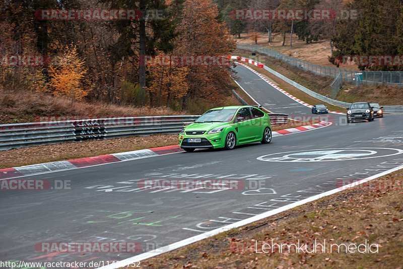
<path id="1" fill-rule="evenodd" d="M 270 117 L 261 106 L 224 106 L 209 110 L 182 129 L 179 146 L 188 152 L 196 148 L 233 149 L 236 145 L 272 141 Z"/>

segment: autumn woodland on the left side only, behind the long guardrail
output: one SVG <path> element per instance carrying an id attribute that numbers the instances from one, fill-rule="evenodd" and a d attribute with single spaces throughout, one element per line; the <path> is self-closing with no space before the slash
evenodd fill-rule
<path id="1" fill-rule="evenodd" d="M 40 20 L 38 10 L 158 11 L 135 20 Z M 157 65 L 161 56 L 228 56 L 235 47 L 211 0 L 2 1 L 0 90 L 112 105 L 187 110 L 231 96 L 230 66 Z M 40 55 L 40 66 L 7 65 Z M 3 94 L 2 94 L 3 95 Z M 208 100 L 208 101 L 207 101 Z"/>

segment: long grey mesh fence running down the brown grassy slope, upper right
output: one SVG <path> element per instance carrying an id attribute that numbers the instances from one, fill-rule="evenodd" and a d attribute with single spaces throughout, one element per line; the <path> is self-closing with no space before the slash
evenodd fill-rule
<path id="1" fill-rule="evenodd" d="M 388 84 L 403 87 L 403 72 L 401 71 L 345 70 L 334 67 L 315 65 L 309 62 L 298 60 L 294 57 L 286 56 L 283 53 L 280 53 L 268 47 L 263 47 L 255 44 L 237 45 L 237 48 L 263 53 L 267 56 L 273 57 L 277 60 L 281 60 L 289 65 L 298 67 L 304 71 L 308 71 L 319 76 L 336 78 L 340 74 L 342 81 L 348 81 L 350 83 L 362 83 L 365 85 Z"/>

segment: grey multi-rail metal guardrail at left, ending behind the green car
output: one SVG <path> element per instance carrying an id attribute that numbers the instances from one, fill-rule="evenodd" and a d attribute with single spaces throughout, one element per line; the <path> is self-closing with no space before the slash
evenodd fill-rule
<path id="1" fill-rule="evenodd" d="M 156 116 L 53 121 L 0 125 L 0 150 L 64 142 L 102 140 L 153 134 L 179 134 L 199 116 Z M 273 124 L 287 123 L 288 115 L 271 116 Z"/>

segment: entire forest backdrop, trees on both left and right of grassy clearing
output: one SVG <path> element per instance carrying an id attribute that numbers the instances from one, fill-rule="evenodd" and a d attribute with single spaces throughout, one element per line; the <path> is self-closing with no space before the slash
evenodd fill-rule
<path id="1" fill-rule="evenodd" d="M 0 2 L 0 96 L 201 113 L 228 104 L 231 65 L 159 64 L 146 59 L 227 57 L 242 35 L 283 46 L 327 40 L 329 62 L 342 56 L 403 55 L 401 0 L 35 0 Z M 40 10 L 142 10 L 135 20 L 43 20 Z M 329 20 L 239 20 L 236 10 L 331 10 Z M 294 36 L 294 39 L 293 39 Z M 9 56 L 39 55 L 43 65 L 8 65 Z M 173 64 L 172 64 L 173 63 Z M 360 65 L 403 70 L 403 65 Z M 4 100 L 3 100 L 4 101 Z M 0 105 L 2 104 L 0 99 Z M 4 101 L 10 103 L 9 101 Z M 13 101 L 14 102 L 14 101 Z M 18 100 L 15 100 L 18 102 Z M 24 101 L 26 103 L 26 101 Z M 34 104 L 33 104 L 34 105 Z M 7 106 L 3 111 L 7 112 Z M 18 106 L 18 105 L 16 105 Z M 14 112 L 15 113 L 15 112 Z M 28 112 L 25 112 L 28 113 Z"/>

